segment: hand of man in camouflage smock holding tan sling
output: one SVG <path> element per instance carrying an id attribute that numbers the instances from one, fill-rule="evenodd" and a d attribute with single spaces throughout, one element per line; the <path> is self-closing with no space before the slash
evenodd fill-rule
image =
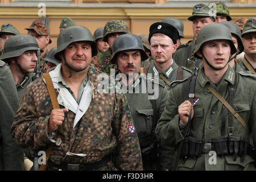
<path id="1" fill-rule="evenodd" d="M 48 121 L 48 133 L 55 131 L 58 126 L 62 125 L 65 119 L 65 112 L 67 111 L 68 109 L 53 109 L 51 111 L 51 115 Z"/>

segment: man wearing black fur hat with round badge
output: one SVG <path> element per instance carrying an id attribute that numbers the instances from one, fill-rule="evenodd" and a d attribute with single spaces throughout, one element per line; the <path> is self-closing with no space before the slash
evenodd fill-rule
<path id="1" fill-rule="evenodd" d="M 179 67 L 176 64 L 177 60 L 172 59 L 177 48 L 177 39 L 179 32 L 171 24 L 156 22 L 150 26 L 148 42 L 154 64 L 150 65 L 147 73 L 158 75 L 168 91 L 171 89 L 171 82 L 191 76 L 187 68 Z"/>

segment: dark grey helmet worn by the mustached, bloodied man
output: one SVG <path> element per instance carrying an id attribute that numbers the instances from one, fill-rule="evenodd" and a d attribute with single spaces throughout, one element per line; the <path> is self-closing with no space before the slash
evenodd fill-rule
<path id="1" fill-rule="evenodd" d="M 131 50 L 131 49 L 139 49 L 139 51 L 141 51 L 141 61 L 148 59 L 146 52 L 144 52 L 141 39 L 134 34 L 124 34 L 124 35 L 118 36 L 118 38 L 114 40 L 113 55 L 111 57 L 110 62 L 112 64 L 115 64 L 117 60 L 118 52 Z"/>

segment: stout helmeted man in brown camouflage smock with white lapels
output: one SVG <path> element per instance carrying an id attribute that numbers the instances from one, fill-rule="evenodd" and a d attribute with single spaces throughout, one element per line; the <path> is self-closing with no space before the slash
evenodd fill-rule
<path id="1" fill-rule="evenodd" d="M 46 151 L 53 145 L 47 170 L 142 169 L 137 132 L 129 130 L 133 119 L 125 94 L 110 93 L 109 81 L 104 88 L 99 86 L 100 72 L 90 64 L 96 53 L 88 28 L 66 28 L 58 36 L 55 53 L 61 64 L 49 72 L 60 109 L 53 109 L 43 77 L 24 93 L 11 134 L 22 147 Z"/>

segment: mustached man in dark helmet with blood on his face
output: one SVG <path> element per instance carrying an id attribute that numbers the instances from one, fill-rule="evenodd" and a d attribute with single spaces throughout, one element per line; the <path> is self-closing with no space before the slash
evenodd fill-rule
<path id="1" fill-rule="evenodd" d="M 158 154 L 163 154 L 159 153 L 154 131 L 168 96 L 160 80 L 141 75 L 141 62 L 146 59 L 148 56 L 137 35 L 125 34 L 115 39 L 110 60 L 117 64 L 115 88 L 126 93 L 141 146 L 143 169 L 159 170 L 162 167 Z"/>

